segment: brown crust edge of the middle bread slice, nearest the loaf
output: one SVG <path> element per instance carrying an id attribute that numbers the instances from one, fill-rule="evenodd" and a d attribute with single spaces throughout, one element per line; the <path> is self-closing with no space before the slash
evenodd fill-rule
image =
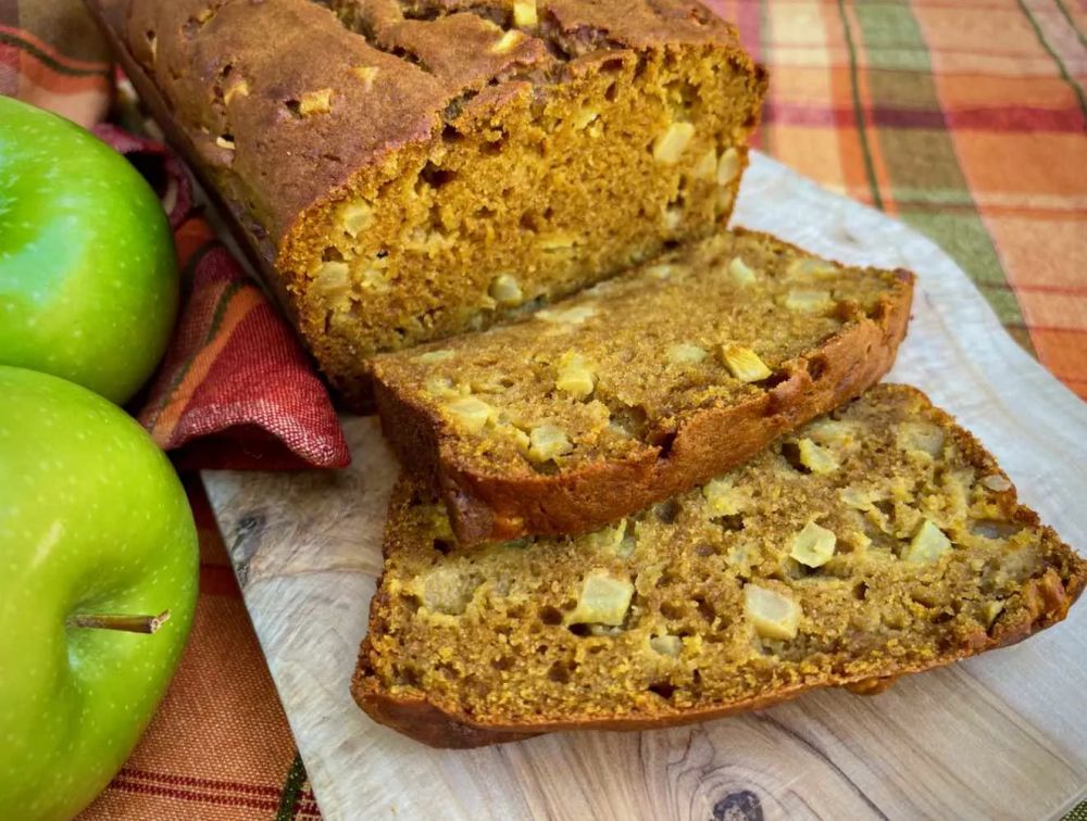
<path id="1" fill-rule="evenodd" d="M 802 253 L 769 235 L 735 232 Z M 782 433 L 877 382 L 894 364 L 910 319 L 913 275 L 897 274 L 899 287 L 872 316 L 785 363 L 780 371 L 787 378 L 769 392 L 680 419 L 666 452 L 644 449 L 551 476 L 477 472 L 464 465 L 453 449 L 455 434 L 430 408 L 378 379 L 382 428 L 408 470 L 432 478 L 463 544 L 592 530 L 744 463 Z"/>

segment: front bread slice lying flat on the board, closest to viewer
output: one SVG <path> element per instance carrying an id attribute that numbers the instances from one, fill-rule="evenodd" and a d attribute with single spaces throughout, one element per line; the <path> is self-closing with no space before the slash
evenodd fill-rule
<path id="1" fill-rule="evenodd" d="M 402 483 L 352 681 L 439 747 L 871 693 L 1064 618 L 1087 563 L 919 391 L 878 386 L 578 538 L 458 547 Z"/>

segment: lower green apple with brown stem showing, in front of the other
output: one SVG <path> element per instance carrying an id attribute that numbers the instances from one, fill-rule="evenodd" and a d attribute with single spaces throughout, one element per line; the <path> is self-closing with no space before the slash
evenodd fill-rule
<path id="1" fill-rule="evenodd" d="M 117 406 L 0 366 L 0 817 L 68 818 L 180 658 L 199 558 L 168 459 Z M 168 611 L 153 634 L 125 628 Z"/>

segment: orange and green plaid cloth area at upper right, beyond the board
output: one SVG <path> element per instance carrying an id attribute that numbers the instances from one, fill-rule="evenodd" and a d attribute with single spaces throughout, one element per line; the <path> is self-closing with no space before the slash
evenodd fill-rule
<path id="1" fill-rule="evenodd" d="M 761 148 L 934 239 L 1087 399 L 1087 7 L 708 4 L 771 68 Z"/>

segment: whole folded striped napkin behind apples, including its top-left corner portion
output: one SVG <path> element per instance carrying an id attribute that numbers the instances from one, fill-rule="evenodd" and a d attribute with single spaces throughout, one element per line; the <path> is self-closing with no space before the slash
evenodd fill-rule
<path id="1" fill-rule="evenodd" d="M 0 2 L 0 93 L 51 109 L 133 160 L 159 190 L 182 270 L 182 307 L 159 370 L 129 410 L 186 468 L 343 467 L 347 442 L 301 344 L 195 205 L 161 142 L 100 123 L 104 45 L 77 0 Z"/>

